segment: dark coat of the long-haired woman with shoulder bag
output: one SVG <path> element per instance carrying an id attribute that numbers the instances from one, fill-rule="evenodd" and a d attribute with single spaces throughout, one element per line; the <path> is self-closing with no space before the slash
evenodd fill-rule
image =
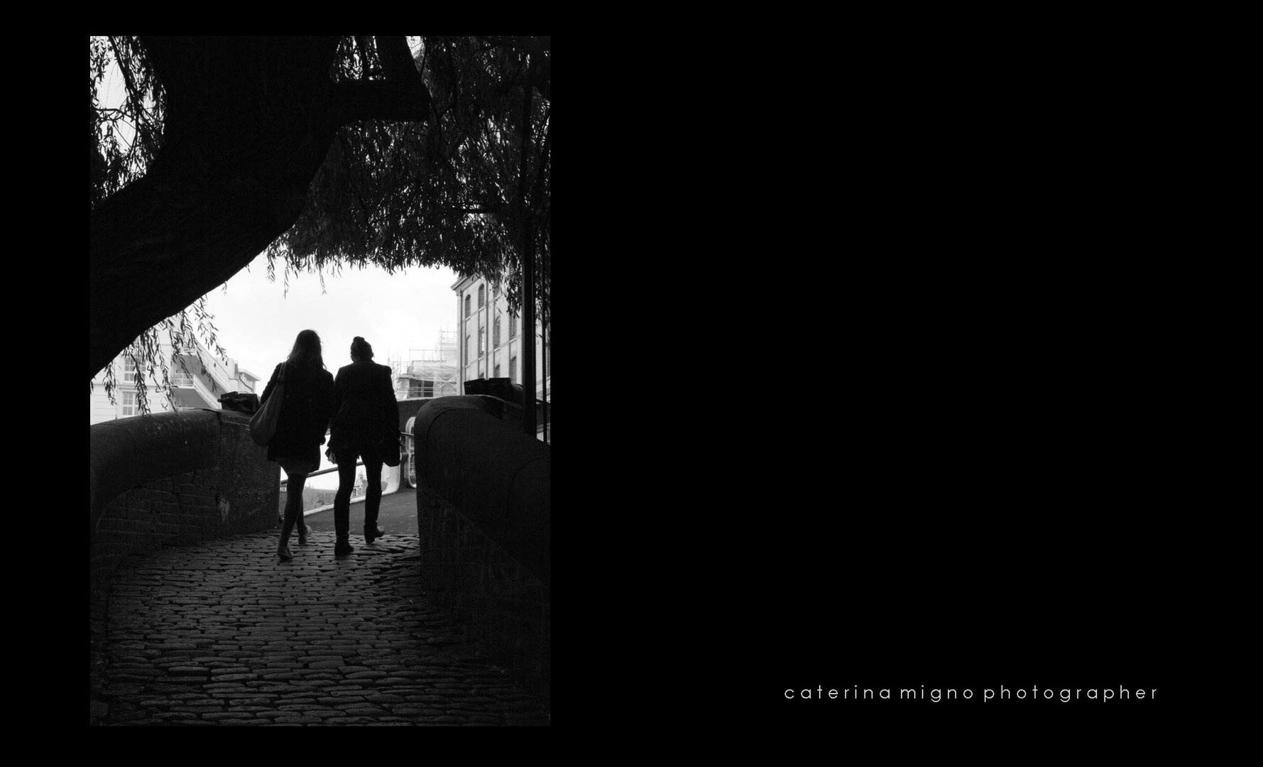
<path id="1" fill-rule="evenodd" d="M 259 398 L 260 406 L 272 396 L 285 364 L 280 363 L 272 371 L 272 380 Z M 282 393 L 285 399 L 277 433 L 268 445 L 268 460 L 274 461 L 278 456 L 301 459 L 320 466 L 320 446 L 325 444 L 325 432 L 333 416 L 333 375 L 325 369 L 289 365 Z"/>

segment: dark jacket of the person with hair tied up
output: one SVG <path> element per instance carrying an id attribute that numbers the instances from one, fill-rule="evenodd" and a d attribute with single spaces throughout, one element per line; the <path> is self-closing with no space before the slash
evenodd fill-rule
<path id="1" fill-rule="evenodd" d="M 362 360 L 338 369 L 333 403 L 328 436 L 333 450 L 378 447 L 399 428 L 399 403 L 386 365 Z"/>

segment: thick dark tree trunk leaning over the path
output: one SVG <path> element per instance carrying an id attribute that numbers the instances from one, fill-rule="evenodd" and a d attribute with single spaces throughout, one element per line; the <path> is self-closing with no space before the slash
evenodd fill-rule
<path id="1" fill-rule="evenodd" d="M 428 112 L 416 67 L 333 83 L 337 38 L 141 42 L 167 92 L 163 144 L 143 178 L 92 210 L 91 375 L 293 225 L 340 125 Z M 397 77 L 407 42 L 378 44 Z"/>

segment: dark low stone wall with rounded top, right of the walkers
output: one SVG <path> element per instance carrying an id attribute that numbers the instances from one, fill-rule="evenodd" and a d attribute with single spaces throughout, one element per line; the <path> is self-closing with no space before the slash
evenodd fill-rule
<path id="1" fill-rule="evenodd" d="M 549 695 L 549 447 L 481 397 L 417 416 L 417 523 L 428 595 L 466 638 Z"/>

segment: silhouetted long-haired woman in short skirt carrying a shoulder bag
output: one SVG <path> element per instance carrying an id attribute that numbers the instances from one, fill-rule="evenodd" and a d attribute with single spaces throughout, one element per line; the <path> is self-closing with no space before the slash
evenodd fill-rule
<path id="1" fill-rule="evenodd" d="M 277 461 L 288 478 L 285 488 L 285 518 L 280 524 L 280 543 L 277 556 L 290 560 L 289 533 L 298 526 L 298 545 L 307 545 L 307 524 L 303 522 L 303 485 L 307 475 L 320 466 L 320 446 L 325 444 L 330 417 L 333 414 L 333 375 L 325 369 L 320 336 L 314 330 L 304 330 L 294 339 L 289 359 L 277 365 L 272 380 L 263 390 L 259 403 L 268 401 L 275 389 L 280 371 L 285 382 L 280 388 L 280 418 L 277 433 L 268 444 L 268 460 Z"/>

